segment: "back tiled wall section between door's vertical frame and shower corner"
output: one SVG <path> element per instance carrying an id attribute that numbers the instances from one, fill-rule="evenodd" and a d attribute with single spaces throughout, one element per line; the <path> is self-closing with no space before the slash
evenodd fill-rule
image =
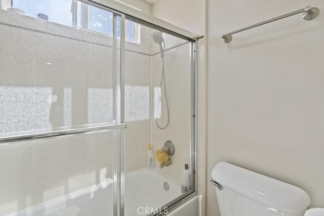
<path id="1" fill-rule="evenodd" d="M 141 44 L 125 45 L 126 174 L 146 167 L 151 143 L 151 31 L 141 26 Z"/>

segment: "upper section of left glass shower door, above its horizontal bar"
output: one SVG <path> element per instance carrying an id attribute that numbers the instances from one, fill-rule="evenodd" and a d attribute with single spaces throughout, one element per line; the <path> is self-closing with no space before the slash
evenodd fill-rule
<path id="1" fill-rule="evenodd" d="M 37 2 L 53 9 L 52 1 Z M 50 10 L 46 21 L 30 12 L 39 7 L 14 4 L 26 14 L 0 10 L 0 137 L 112 124 L 116 83 L 107 28 L 113 26 L 109 19 L 103 25 L 100 17 L 113 13 L 84 3 L 75 5 L 89 10 L 71 10 L 71 4 L 59 1 L 58 14 Z M 57 21 L 66 7 L 70 12 L 61 20 L 79 17 L 91 25 Z"/>

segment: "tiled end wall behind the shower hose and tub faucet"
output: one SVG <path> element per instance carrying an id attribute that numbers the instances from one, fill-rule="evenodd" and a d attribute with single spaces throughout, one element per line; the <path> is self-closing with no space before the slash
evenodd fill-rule
<path id="1" fill-rule="evenodd" d="M 182 40 L 182 43 L 185 42 Z M 190 44 L 169 50 L 165 53 L 165 77 L 170 110 L 170 124 L 166 129 L 159 129 L 152 117 L 152 142 L 156 151 L 171 140 L 176 147 L 176 153 L 171 157 L 172 165 L 159 168 L 177 182 L 181 183 L 181 172 L 184 164 L 190 165 L 191 143 L 191 95 L 190 95 Z M 152 57 L 152 91 L 159 88 L 161 80 L 162 61 L 159 54 Z M 152 96 L 154 97 L 154 96 Z M 162 114 L 158 119 L 160 126 L 167 121 L 165 93 L 161 97 Z M 154 114 L 154 110 L 152 111 Z"/>

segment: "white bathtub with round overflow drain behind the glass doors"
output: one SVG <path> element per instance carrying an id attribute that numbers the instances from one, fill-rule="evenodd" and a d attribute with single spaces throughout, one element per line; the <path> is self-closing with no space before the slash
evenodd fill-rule
<path id="1" fill-rule="evenodd" d="M 165 190 L 166 184 L 168 190 Z M 26 208 L 10 216 L 112 216 L 112 191 L 113 180 L 106 179 L 99 185 Z M 156 211 L 179 195 L 181 185 L 157 169 L 145 168 L 132 172 L 125 177 L 125 215 L 146 215 L 147 210 Z"/>

